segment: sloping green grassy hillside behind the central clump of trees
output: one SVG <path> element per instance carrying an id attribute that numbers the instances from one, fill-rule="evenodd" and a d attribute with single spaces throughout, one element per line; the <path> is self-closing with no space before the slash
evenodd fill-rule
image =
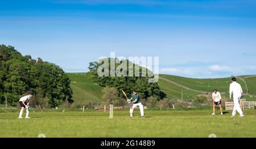
<path id="1" fill-rule="evenodd" d="M 73 100 L 75 105 L 90 103 L 102 103 L 102 87 L 92 81 L 87 73 L 67 73 L 71 79 Z M 248 77 L 248 76 L 247 76 Z M 241 76 L 247 82 L 250 95 L 256 95 L 256 76 Z M 246 84 L 238 79 L 246 92 Z M 212 93 L 214 88 L 222 92 L 222 96 L 229 98 L 230 78 L 193 79 L 174 75 L 160 75 L 158 82 L 160 89 L 167 94 L 168 99 L 193 100 L 199 93 Z M 245 97 L 247 100 L 256 101 L 256 97 Z"/>

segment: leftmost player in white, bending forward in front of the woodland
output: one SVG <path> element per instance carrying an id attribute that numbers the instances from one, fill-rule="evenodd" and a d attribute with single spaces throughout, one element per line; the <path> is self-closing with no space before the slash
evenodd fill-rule
<path id="1" fill-rule="evenodd" d="M 28 93 L 27 96 L 24 96 L 24 97 L 21 97 L 19 99 L 19 104 L 20 104 L 20 112 L 19 112 L 19 118 L 22 118 L 22 114 L 23 114 L 23 111 L 24 109 L 26 109 L 26 117 L 25 118 L 30 118 L 28 117 L 28 114 L 30 113 L 29 112 L 29 109 L 30 109 L 30 99 L 33 95 L 31 93 Z"/>

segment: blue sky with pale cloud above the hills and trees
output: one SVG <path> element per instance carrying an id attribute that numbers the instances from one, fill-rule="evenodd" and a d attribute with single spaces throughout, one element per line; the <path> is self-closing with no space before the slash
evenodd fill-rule
<path id="1" fill-rule="evenodd" d="M 158 56 L 160 73 L 256 74 L 255 1 L 0 1 L 0 44 L 66 72 L 99 57 Z"/>

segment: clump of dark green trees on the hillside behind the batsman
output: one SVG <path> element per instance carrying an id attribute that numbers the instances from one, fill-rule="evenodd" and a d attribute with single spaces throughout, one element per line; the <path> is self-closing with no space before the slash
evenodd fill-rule
<path id="1" fill-rule="evenodd" d="M 105 59 L 106 60 L 106 59 Z M 119 91 L 119 96 L 122 96 L 121 90 L 131 93 L 133 90 L 137 90 L 138 93 L 141 95 L 143 99 L 147 99 L 148 97 L 155 97 L 157 100 L 163 99 L 166 95 L 160 91 L 160 87 L 158 83 L 148 83 L 148 79 L 150 77 L 142 76 L 142 67 L 135 65 L 134 63 L 129 62 L 128 60 L 122 60 L 120 63 L 115 64 L 115 69 L 122 65 L 123 61 L 126 61 L 127 63 L 127 74 L 129 74 L 129 65 L 133 65 L 133 76 L 110 76 L 110 58 L 108 58 L 109 62 L 109 76 L 98 76 L 98 68 L 102 66 L 103 63 L 97 63 L 97 62 L 90 62 L 89 63 L 89 70 L 90 74 L 92 75 L 92 78 L 95 82 L 100 84 L 102 87 L 114 87 L 117 88 Z M 119 59 L 112 59 L 113 61 Z M 135 76 L 135 67 L 139 67 L 140 75 L 137 77 Z M 150 70 L 146 69 L 147 72 L 150 72 Z M 102 72 L 105 72 L 107 70 L 104 70 Z M 131 71 L 131 70 L 130 70 Z M 121 72 L 125 72 L 125 70 L 121 70 Z M 150 72 L 151 73 L 151 72 Z"/>

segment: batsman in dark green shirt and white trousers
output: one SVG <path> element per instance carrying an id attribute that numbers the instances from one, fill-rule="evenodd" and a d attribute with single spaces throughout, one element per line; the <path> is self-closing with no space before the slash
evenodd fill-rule
<path id="1" fill-rule="evenodd" d="M 133 104 L 133 106 L 130 108 L 130 117 L 133 118 L 134 109 L 139 106 L 139 109 L 141 110 L 141 118 L 144 118 L 144 107 L 141 103 L 139 95 L 137 94 L 137 91 L 133 91 L 133 93 L 131 94 L 130 102 L 131 104 Z"/>

